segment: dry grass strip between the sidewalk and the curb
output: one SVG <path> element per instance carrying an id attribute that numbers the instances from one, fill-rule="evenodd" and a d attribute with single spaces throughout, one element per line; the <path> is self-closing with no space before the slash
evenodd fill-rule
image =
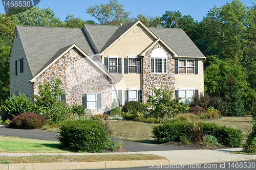
<path id="1" fill-rule="evenodd" d="M 166 159 L 156 155 L 143 154 L 113 154 L 113 155 L 83 155 L 83 156 L 48 156 L 35 155 L 23 157 L 0 157 L 0 163 L 54 163 L 54 162 L 97 162 L 97 161 L 130 161 L 130 160 L 160 160 Z"/>

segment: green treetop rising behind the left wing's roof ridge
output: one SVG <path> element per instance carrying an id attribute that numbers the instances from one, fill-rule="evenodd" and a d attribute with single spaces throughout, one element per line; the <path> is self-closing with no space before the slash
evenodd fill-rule
<path id="1" fill-rule="evenodd" d="M 19 24 L 22 26 L 42 26 L 42 27 L 64 27 L 65 24 L 55 16 L 50 8 L 31 8 L 16 15 Z"/>

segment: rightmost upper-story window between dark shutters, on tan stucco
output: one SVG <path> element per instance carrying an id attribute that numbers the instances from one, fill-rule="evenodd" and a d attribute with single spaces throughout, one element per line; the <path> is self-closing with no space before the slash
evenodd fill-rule
<path id="1" fill-rule="evenodd" d="M 194 74 L 194 60 L 179 60 L 179 74 Z"/>

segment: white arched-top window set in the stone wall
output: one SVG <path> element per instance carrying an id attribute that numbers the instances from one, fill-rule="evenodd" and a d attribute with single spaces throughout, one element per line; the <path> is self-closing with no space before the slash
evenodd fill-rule
<path id="1" fill-rule="evenodd" d="M 167 55 L 161 48 L 156 48 L 151 54 L 151 72 L 167 72 Z"/>

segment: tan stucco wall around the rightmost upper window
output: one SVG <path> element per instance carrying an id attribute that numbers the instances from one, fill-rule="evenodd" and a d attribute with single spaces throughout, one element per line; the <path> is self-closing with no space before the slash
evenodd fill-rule
<path id="1" fill-rule="evenodd" d="M 186 58 L 195 59 L 195 58 Z M 175 90 L 179 88 L 195 88 L 198 92 L 204 92 L 204 63 L 203 59 L 198 59 L 198 75 L 175 75 Z"/>

